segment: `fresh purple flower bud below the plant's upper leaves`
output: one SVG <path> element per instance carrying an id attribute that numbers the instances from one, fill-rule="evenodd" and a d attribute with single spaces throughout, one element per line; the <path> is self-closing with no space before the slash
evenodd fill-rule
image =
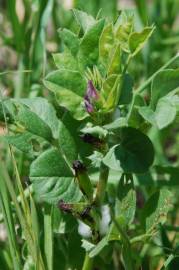
<path id="1" fill-rule="evenodd" d="M 94 112 L 94 106 L 93 106 L 93 101 L 97 100 L 99 98 L 99 94 L 94 87 L 92 81 L 88 81 L 87 85 L 87 90 L 86 90 L 86 95 L 84 97 L 84 102 L 85 102 L 85 108 L 88 113 Z"/>

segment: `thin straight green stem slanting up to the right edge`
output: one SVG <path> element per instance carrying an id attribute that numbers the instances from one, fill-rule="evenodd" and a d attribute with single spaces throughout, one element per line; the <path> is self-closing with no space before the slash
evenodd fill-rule
<path id="1" fill-rule="evenodd" d="M 135 94 L 142 93 L 147 86 L 153 81 L 154 77 L 162 70 L 169 67 L 177 58 L 179 58 L 179 53 L 177 53 L 174 57 L 172 57 L 165 65 L 159 68 L 151 77 L 149 77 L 136 91 Z"/>

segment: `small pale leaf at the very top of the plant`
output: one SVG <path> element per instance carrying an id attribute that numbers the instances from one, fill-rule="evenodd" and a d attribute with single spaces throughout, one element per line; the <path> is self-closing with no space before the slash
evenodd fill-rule
<path id="1" fill-rule="evenodd" d="M 77 22 L 83 29 L 84 33 L 88 31 L 96 22 L 96 20 L 91 15 L 88 15 L 86 12 L 78 9 L 73 9 L 73 12 Z"/>

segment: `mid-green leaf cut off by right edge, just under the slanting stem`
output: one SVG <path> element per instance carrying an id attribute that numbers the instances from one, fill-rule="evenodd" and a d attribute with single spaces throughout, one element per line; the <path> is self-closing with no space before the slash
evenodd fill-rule
<path id="1" fill-rule="evenodd" d="M 155 109 L 158 100 L 179 87 L 179 69 L 160 71 L 154 78 L 151 88 L 151 107 Z"/>

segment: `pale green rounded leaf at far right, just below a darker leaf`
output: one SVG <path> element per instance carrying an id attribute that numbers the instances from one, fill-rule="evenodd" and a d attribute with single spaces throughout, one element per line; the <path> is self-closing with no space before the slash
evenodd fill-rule
<path id="1" fill-rule="evenodd" d="M 159 129 L 167 127 L 176 117 L 176 108 L 169 98 L 161 98 L 157 103 L 155 120 Z"/>

